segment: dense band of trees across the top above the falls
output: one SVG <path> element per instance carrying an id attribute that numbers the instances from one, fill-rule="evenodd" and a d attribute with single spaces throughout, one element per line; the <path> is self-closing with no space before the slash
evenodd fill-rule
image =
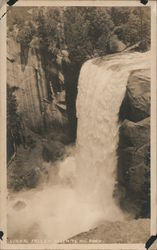
<path id="1" fill-rule="evenodd" d="M 16 8 L 9 15 L 9 29 L 17 26 L 18 42 L 29 44 L 36 36 L 52 57 L 64 49 L 71 60 L 79 62 L 105 55 L 110 53 L 108 42 L 113 34 L 126 46 L 139 41 L 142 51 L 150 46 L 149 7 Z"/>

